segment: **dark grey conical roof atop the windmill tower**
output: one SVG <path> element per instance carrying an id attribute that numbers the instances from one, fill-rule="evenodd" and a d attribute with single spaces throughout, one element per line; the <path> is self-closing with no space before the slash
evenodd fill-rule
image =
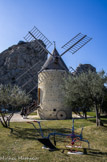
<path id="1" fill-rule="evenodd" d="M 49 59 L 47 59 L 40 72 L 49 69 L 69 71 L 56 48 L 54 48 L 52 55 L 49 57 Z"/>

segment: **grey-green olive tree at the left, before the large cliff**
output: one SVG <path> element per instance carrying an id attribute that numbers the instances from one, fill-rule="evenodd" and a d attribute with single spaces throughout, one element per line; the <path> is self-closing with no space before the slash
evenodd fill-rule
<path id="1" fill-rule="evenodd" d="M 31 101 L 30 95 L 21 90 L 17 85 L 0 85 L 0 121 L 4 127 L 10 126 L 10 120 L 14 112 L 21 106 L 28 104 Z M 12 108 L 12 113 L 6 115 L 6 111 Z"/>

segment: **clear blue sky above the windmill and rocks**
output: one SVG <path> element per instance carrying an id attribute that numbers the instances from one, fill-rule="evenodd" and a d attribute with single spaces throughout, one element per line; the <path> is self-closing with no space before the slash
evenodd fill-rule
<path id="1" fill-rule="evenodd" d="M 33 26 L 56 42 L 60 54 L 61 46 L 79 32 L 93 38 L 63 60 L 68 68 L 91 64 L 107 72 L 107 0 L 0 0 L 0 53 L 24 41 Z"/>

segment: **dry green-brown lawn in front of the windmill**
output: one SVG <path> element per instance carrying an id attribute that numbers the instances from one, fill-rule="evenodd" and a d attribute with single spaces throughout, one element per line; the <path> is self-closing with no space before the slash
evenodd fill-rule
<path id="1" fill-rule="evenodd" d="M 56 138 L 58 151 L 50 152 L 42 149 L 42 144 L 37 140 L 40 137 L 39 133 L 28 123 L 11 123 L 11 127 L 14 129 L 13 133 L 0 125 L 0 161 L 106 162 L 107 119 L 103 118 L 103 122 L 104 127 L 98 128 L 95 125 L 95 118 L 75 120 L 76 132 L 80 132 L 81 127 L 84 126 L 83 136 L 90 142 L 87 155 L 68 155 L 64 141 L 68 142 L 69 138 L 63 139 L 62 137 Z M 69 133 L 72 120 L 43 121 L 41 125 L 45 135 L 51 131 Z M 85 143 L 82 145 L 87 147 Z"/>

